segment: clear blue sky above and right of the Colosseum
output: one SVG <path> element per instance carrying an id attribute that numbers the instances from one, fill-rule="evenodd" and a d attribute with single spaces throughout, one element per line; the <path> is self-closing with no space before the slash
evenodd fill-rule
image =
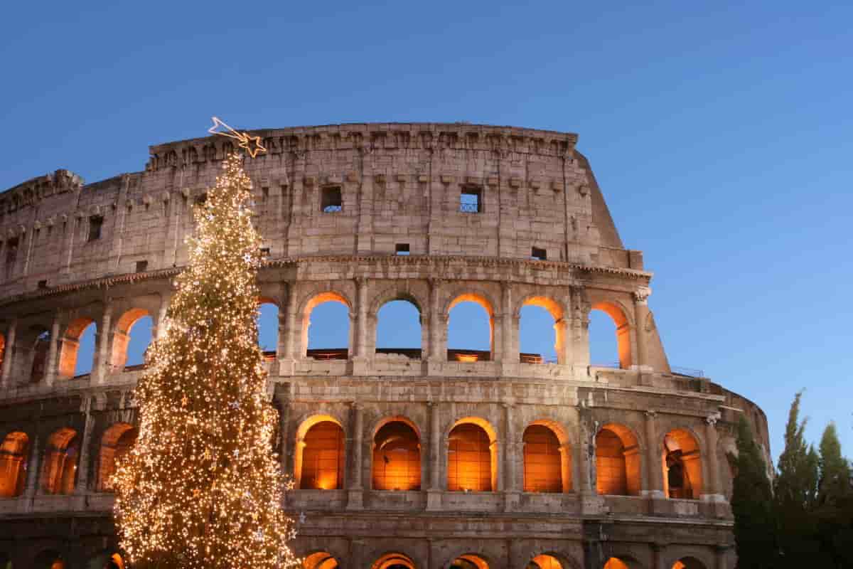
<path id="1" fill-rule="evenodd" d="M 0 188 L 139 171 L 212 114 L 574 131 L 670 362 L 760 404 L 775 455 L 805 387 L 853 454 L 850 3 L 82 4 L 3 9 Z"/>

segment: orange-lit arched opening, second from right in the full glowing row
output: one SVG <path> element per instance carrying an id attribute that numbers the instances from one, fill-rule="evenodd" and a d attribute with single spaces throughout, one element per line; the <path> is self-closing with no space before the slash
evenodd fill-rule
<path id="1" fill-rule="evenodd" d="M 640 449 L 627 427 L 609 423 L 595 435 L 595 486 L 599 494 L 639 496 Z"/>

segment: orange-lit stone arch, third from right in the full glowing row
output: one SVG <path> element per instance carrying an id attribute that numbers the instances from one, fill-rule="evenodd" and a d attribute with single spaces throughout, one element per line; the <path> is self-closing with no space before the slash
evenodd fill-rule
<path id="1" fill-rule="evenodd" d="M 536 433 L 542 429 L 547 430 L 553 440 L 548 440 L 547 434 Z M 524 491 L 571 492 L 572 445 L 566 429 L 558 421 L 539 419 L 525 427 L 521 439 L 524 445 Z M 539 474 L 547 479 L 544 484 L 535 483 L 532 479 Z"/>

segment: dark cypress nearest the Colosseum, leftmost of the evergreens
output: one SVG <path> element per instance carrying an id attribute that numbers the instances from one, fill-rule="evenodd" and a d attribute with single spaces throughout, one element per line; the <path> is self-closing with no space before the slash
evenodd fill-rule
<path id="1" fill-rule="evenodd" d="M 746 419 L 738 422 L 737 475 L 732 491 L 738 569 L 774 569 L 777 548 L 773 493 L 761 450 Z"/>

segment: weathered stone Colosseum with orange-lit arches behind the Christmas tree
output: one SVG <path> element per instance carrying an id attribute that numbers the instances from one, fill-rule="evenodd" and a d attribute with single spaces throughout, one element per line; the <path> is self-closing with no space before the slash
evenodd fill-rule
<path id="1" fill-rule="evenodd" d="M 306 569 L 734 567 L 727 453 L 740 415 L 769 449 L 765 416 L 670 367 L 652 273 L 576 135 L 254 134 L 269 150 L 247 160 L 258 303 L 278 315 L 265 353 L 294 482 L 282 506 Z M 232 149 L 169 142 L 144 171 L 85 184 L 57 170 L 0 194 L 3 569 L 124 567 L 110 474 L 136 434 L 131 328 L 156 336 L 191 207 Z M 393 300 L 420 313 L 419 346 L 377 346 Z M 348 345 L 309 349 L 323 303 L 345 305 Z M 448 345 L 461 303 L 484 309 L 488 350 Z M 519 351 L 528 305 L 553 318 L 555 357 Z M 618 364 L 590 362 L 591 311 L 612 319 Z M 78 358 L 87 331 L 94 349 Z"/>

